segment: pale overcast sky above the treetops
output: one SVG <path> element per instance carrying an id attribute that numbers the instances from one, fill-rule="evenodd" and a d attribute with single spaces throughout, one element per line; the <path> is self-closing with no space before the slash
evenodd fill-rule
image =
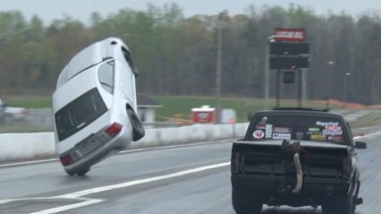
<path id="1" fill-rule="evenodd" d="M 229 14 L 245 13 L 250 4 L 261 8 L 263 5 L 300 4 L 318 14 L 349 13 L 356 17 L 362 13 L 380 12 L 380 0 L 0 0 L 0 11 L 18 10 L 26 18 L 37 14 L 46 24 L 54 19 L 62 19 L 68 14 L 74 19 L 89 22 L 93 12 L 104 17 L 117 13 L 120 9 L 131 8 L 144 11 L 148 3 L 161 6 L 165 3 L 177 3 L 185 16 L 194 14 L 216 14 L 227 10 Z"/>

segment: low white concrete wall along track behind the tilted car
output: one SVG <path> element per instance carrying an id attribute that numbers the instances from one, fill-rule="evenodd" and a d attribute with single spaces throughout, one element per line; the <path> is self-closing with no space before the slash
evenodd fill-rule
<path id="1" fill-rule="evenodd" d="M 248 124 L 196 124 L 176 128 L 147 129 L 131 148 L 242 137 Z M 54 133 L 0 134 L 0 161 L 55 156 Z"/>

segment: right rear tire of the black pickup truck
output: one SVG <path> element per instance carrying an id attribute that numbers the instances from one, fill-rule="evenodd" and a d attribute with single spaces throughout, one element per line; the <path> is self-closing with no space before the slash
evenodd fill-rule
<path id="1" fill-rule="evenodd" d="M 342 195 L 328 198 L 322 205 L 323 214 L 354 214 L 353 197 Z"/>

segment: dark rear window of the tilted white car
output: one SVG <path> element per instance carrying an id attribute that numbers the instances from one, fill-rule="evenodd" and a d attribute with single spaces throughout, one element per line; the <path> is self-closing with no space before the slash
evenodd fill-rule
<path id="1" fill-rule="evenodd" d="M 97 89 L 89 90 L 55 113 L 58 140 L 63 141 L 77 133 L 107 110 Z"/>

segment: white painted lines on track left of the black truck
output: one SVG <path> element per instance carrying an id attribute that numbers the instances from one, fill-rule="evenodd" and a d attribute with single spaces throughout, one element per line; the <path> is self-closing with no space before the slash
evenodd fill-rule
<path id="1" fill-rule="evenodd" d="M 10 202 L 14 202 L 14 201 L 48 201 L 48 200 L 65 200 L 65 199 L 72 199 L 72 200 L 80 200 L 81 201 L 81 202 L 73 203 L 70 205 L 65 205 L 65 206 L 55 207 L 55 208 L 48 209 L 48 210 L 40 210 L 37 212 L 30 213 L 30 214 L 54 214 L 54 213 L 67 211 L 67 210 L 73 210 L 73 209 L 77 209 L 80 207 L 85 207 L 85 206 L 89 206 L 92 204 L 96 204 L 96 203 L 100 203 L 102 201 L 105 201 L 105 200 L 101 200 L 101 199 L 83 198 L 82 196 L 85 196 L 85 195 L 89 195 L 89 194 L 93 194 L 93 193 L 102 193 L 102 192 L 111 191 L 111 190 L 115 190 L 115 189 L 130 187 L 130 186 L 138 185 L 138 184 L 147 184 L 147 183 L 165 180 L 165 179 L 173 178 L 173 177 L 177 177 L 177 176 L 199 173 L 199 172 L 214 169 L 214 168 L 226 167 L 229 165 L 230 165 L 230 162 L 224 162 L 224 163 L 219 163 L 219 164 L 215 164 L 215 165 L 208 165 L 208 166 L 204 166 L 204 167 L 197 167 L 197 168 L 192 168 L 192 169 L 188 169 L 188 170 L 183 170 L 183 171 L 179 171 L 179 172 L 167 174 L 167 175 L 158 175 L 158 176 L 154 176 L 154 177 L 124 182 L 124 183 L 120 183 L 120 184 L 99 186 L 99 187 L 90 188 L 87 190 L 82 190 L 82 191 L 78 191 L 78 192 L 74 192 L 74 193 L 67 193 L 67 194 L 62 194 L 62 195 L 57 195 L 57 196 L 52 196 L 52 197 L 5 199 L 5 200 L 0 200 L 0 204 L 10 203 Z"/>

